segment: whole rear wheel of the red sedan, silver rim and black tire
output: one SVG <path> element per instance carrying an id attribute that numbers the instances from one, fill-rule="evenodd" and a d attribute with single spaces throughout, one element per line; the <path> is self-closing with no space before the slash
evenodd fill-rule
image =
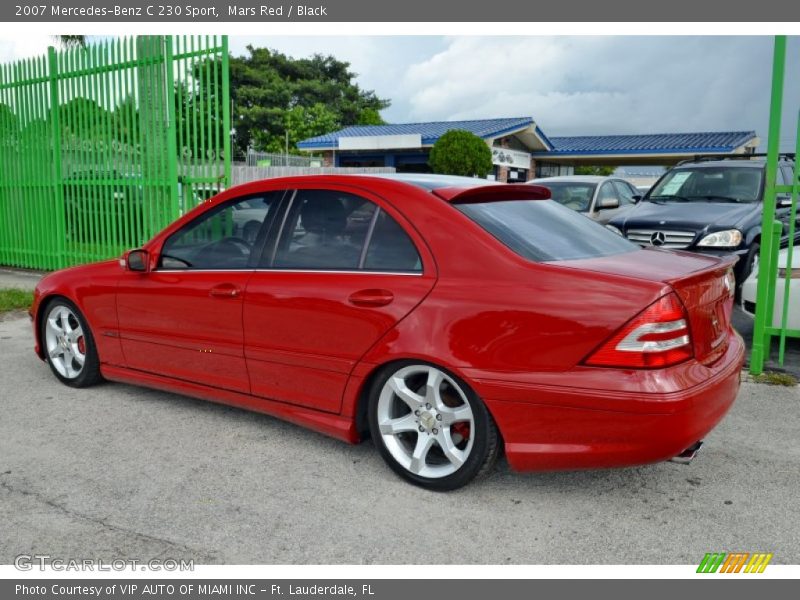
<path id="1" fill-rule="evenodd" d="M 497 427 L 462 380 L 426 363 L 394 364 L 370 390 L 369 425 L 383 459 L 408 481 L 436 491 L 488 472 Z"/>

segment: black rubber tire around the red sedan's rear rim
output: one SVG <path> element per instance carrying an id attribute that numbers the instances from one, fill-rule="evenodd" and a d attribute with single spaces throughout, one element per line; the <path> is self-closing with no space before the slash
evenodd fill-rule
<path id="1" fill-rule="evenodd" d="M 443 373 L 446 378 L 449 378 L 457 385 L 458 390 L 463 392 L 463 394 L 460 396 L 460 400 L 464 401 L 464 404 L 459 405 L 458 408 L 463 408 L 465 405 L 468 405 L 472 412 L 472 422 L 469 429 L 469 437 L 472 438 L 471 449 L 469 450 L 466 460 L 464 460 L 459 467 L 456 467 L 455 472 L 448 475 L 440 477 L 426 477 L 411 472 L 409 468 L 398 462 L 398 459 L 395 458 L 395 456 L 392 454 L 392 451 L 389 450 L 384 441 L 384 435 L 381 433 L 378 424 L 379 400 L 381 394 L 384 392 L 385 386 L 389 382 L 389 379 L 402 371 L 407 369 L 413 370 L 415 368 L 434 369 Z M 448 386 L 450 385 L 447 381 L 444 381 L 443 383 L 447 384 Z M 447 369 L 444 369 L 438 365 L 424 363 L 421 361 L 395 362 L 384 367 L 376 375 L 372 385 L 370 386 L 368 394 L 369 406 L 367 418 L 369 422 L 370 435 L 384 461 L 386 461 L 386 464 L 406 481 L 428 490 L 445 492 L 455 490 L 466 485 L 476 477 L 480 477 L 490 472 L 494 467 L 497 457 L 500 454 L 501 446 L 500 434 L 497 430 L 497 426 L 494 423 L 494 419 L 492 419 L 492 416 L 489 414 L 489 411 L 486 409 L 486 405 L 483 403 L 483 401 L 466 384 L 466 382 L 449 372 Z M 399 399 L 399 397 L 395 396 L 395 400 L 397 399 Z M 402 416 L 410 417 L 412 419 L 414 418 L 411 413 Z M 434 429 L 433 431 L 435 432 L 436 430 Z M 444 435 L 443 429 L 442 433 Z M 407 434 L 409 436 L 422 435 L 416 431 L 408 431 Z M 401 435 L 406 435 L 406 433 L 404 432 Z M 453 435 L 450 433 L 449 427 L 447 435 Z M 451 437 L 450 439 L 452 440 L 453 438 Z M 413 443 L 409 443 L 409 446 L 413 445 Z M 436 447 L 439 448 L 438 452 L 444 455 L 441 445 L 438 443 L 438 441 L 435 442 L 435 446 L 432 447 L 432 450 Z M 467 447 L 470 448 L 470 446 Z M 450 467 L 447 462 L 445 462 L 445 466 Z"/>

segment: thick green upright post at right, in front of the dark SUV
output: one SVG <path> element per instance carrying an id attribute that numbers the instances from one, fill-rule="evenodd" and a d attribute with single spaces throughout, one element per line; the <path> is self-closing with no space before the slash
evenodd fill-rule
<path id="1" fill-rule="evenodd" d="M 756 317 L 753 325 L 753 348 L 750 353 L 750 372 L 758 375 L 764 370 L 764 361 L 769 357 L 772 321 L 766 318 L 772 313 L 767 302 L 770 289 L 775 287 L 777 273 L 772 264 L 772 226 L 775 221 L 775 182 L 778 175 L 778 152 L 781 135 L 781 110 L 783 107 L 783 76 L 786 66 L 786 36 L 775 36 L 772 58 L 772 100 L 769 112 L 769 138 L 767 140 L 767 172 L 764 186 L 764 214 L 761 219 L 761 253 L 758 267 L 758 291 L 756 294 Z"/>

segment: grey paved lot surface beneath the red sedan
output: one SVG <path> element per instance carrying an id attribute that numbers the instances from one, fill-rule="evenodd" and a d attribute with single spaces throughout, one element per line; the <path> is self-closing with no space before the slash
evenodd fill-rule
<path id="1" fill-rule="evenodd" d="M 800 562 L 800 388 L 745 382 L 691 465 L 410 486 L 370 442 L 120 384 L 75 390 L 0 323 L 0 563 Z"/>

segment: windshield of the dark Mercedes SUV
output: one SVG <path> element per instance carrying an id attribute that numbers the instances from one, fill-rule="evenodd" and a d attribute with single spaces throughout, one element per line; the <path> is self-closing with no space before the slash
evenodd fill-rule
<path id="1" fill-rule="evenodd" d="M 673 169 L 647 196 L 651 202 L 757 202 L 761 198 L 759 167 Z"/>

